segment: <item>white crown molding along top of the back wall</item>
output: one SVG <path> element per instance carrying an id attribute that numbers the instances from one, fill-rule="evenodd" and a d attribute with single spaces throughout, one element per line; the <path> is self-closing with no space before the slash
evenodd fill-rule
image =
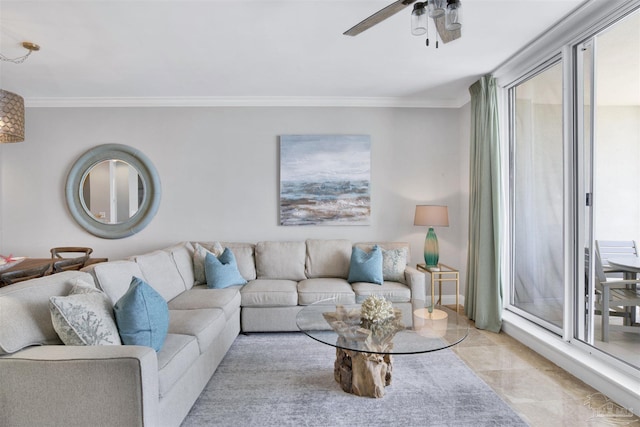
<path id="1" fill-rule="evenodd" d="M 460 108 L 460 99 L 393 97 L 149 97 L 149 98 L 25 98 L 29 108 L 88 107 L 366 107 L 366 108 Z"/>

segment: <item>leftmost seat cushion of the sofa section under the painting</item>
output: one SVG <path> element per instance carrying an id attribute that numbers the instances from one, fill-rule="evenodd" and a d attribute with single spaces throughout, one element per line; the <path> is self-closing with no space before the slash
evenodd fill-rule
<path id="1" fill-rule="evenodd" d="M 243 307 L 281 307 L 298 305 L 294 280 L 256 279 L 242 287 Z"/>

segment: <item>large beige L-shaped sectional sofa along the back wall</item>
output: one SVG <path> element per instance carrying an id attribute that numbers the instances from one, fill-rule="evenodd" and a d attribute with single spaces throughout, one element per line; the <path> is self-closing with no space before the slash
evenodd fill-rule
<path id="1" fill-rule="evenodd" d="M 425 277 L 409 266 L 397 281 L 350 284 L 348 240 L 220 243 L 233 252 L 247 284 L 198 283 L 191 242 L 0 288 L 0 425 L 180 425 L 241 331 L 295 331 L 304 305 L 328 298 L 356 303 L 371 294 L 391 300 L 410 325 L 412 308 L 425 299 Z M 379 245 L 406 248 L 408 263 L 407 244 Z M 50 297 L 69 294 L 81 279 L 115 303 L 133 276 L 168 302 L 169 331 L 159 352 L 61 345 Z"/>

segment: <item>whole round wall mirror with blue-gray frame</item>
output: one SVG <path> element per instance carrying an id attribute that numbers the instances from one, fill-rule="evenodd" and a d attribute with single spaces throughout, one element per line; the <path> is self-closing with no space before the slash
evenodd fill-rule
<path id="1" fill-rule="evenodd" d="M 83 154 L 67 177 L 67 205 L 88 232 L 107 239 L 135 234 L 160 204 L 160 179 L 140 151 L 105 144 Z"/>

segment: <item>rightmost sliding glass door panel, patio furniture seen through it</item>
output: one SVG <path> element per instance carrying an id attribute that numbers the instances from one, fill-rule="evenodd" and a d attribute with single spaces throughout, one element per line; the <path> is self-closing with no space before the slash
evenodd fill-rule
<path id="1" fill-rule="evenodd" d="M 604 278 L 621 279 L 624 273 L 609 266 L 607 258 L 633 258 L 633 244 L 640 243 L 640 11 L 578 45 L 575 53 L 577 143 L 583 162 L 578 234 L 585 254 L 576 337 L 640 367 L 640 326 L 633 326 L 640 318 L 638 308 L 607 304 L 602 277 L 596 274 L 604 267 Z M 636 273 L 627 269 L 626 276 Z M 608 320 L 603 320 L 604 310 Z"/>

